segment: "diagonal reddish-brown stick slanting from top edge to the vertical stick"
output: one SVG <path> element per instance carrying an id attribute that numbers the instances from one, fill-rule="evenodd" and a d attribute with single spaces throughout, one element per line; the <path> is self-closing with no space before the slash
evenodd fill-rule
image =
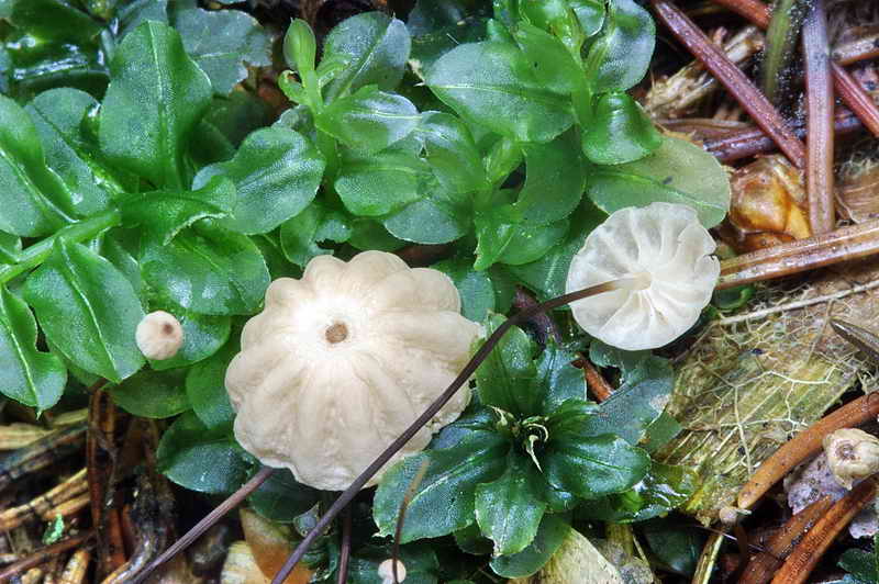
<path id="1" fill-rule="evenodd" d="M 805 165 L 805 146 L 788 127 L 781 114 L 769 103 L 745 74 L 712 43 L 693 22 L 669 0 L 653 0 L 659 20 L 683 43 L 705 68 L 738 101 L 797 168 Z"/>

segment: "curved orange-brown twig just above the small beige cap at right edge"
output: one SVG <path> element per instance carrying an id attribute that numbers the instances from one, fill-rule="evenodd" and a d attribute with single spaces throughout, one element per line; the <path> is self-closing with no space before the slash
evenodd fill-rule
<path id="1" fill-rule="evenodd" d="M 738 506 L 743 509 L 750 508 L 797 464 L 816 454 L 821 450 L 822 439 L 827 434 L 874 419 L 879 414 L 879 400 L 876 397 L 871 394 L 861 395 L 787 441 L 759 465 L 738 492 Z"/>

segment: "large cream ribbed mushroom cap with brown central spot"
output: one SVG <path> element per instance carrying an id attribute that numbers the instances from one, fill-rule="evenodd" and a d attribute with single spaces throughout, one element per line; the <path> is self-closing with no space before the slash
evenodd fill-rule
<path id="1" fill-rule="evenodd" d="M 275 280 L 244 327 L 225 379 L 235 437 L 301 483 L 343 490 L 454 380 L 480 334 L 437 270 L 383 251 L 318 256 L 301 279 Z M 468 402 L 458 392 L 388 465 Z"/>

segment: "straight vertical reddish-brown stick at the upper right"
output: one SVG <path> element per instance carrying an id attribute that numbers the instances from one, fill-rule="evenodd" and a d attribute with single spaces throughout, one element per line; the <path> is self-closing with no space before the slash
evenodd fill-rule
<path id="1" fill-rule="evenodd" d="M 806 143 L 805 188 L 812 233 L 836 227 L 833 182 L 833 79 L 824 0 L 812 0 L 803 24 L 805 55 Z"/>

